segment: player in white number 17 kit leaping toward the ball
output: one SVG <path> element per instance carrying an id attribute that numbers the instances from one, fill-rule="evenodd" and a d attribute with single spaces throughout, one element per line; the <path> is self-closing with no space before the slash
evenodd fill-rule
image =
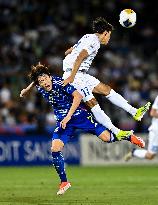
<path id="1" fill-rule="evenodd" d="M 97 78 L 87 74 L 90 65 L 98 53 L 100 45 L 107 45 L 113 26 L 104 18 L 99 17 L 93 22 L 93 34 L 84 35 L 73 47 L 65 52 L 63 60 L 63 84 L 72 85 L 84 96 L 83 101 L 91 108 L 96 120 L 110 129 L 117 136 L 130 135 L 131 131 L 122 131 L 115 127 L 110 118 L 100 108 L 93 93 L 105 95 L 113 104 L 129 112 L 135 120 L 140 121 L 149 109 L 150 102 L 136 109 L 128 104 L 120 94 L 116 93 L 110 86 L 101 83 Z"/>

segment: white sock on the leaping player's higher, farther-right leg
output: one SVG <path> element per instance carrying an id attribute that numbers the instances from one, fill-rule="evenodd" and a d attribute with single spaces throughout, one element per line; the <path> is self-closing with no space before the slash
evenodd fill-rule
<path id="1" fill-rule="evenodd" d="M 129 112 L 132 116 L 137 112 L 136 108 L 132 107 L 127 100 L 125 100 L 120 94 L 116 93 L 113 89 L 111 89 L 110 94 L 107 95 L 106 98 L 114 105 L 117 105 Z"/>

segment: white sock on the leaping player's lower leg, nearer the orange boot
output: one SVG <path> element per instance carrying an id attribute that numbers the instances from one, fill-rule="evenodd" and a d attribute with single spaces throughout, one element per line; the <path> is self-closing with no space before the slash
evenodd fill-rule
<path id="1" fill-rule="evenodd" d="M 104 111 L 101 109 L 101 107 L 99 106 L 99 104 L 95 105 L 92 109 L 91 109 L 92 113 L 94 114 L 96 120 L 102 124 L 103 126 L 105 126 L 106 128 L 108 128 L 109 130 L 111 130 L 115 135 L 118 134 L 118 132 L 120 131 L 120 129 L 118 129 L 117 127 L 115 127 L 110 118 L 104 113 Z"/>

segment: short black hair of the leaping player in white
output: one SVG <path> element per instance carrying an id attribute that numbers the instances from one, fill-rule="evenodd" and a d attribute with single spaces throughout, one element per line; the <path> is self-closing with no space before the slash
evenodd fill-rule
<path id="1" fill-rule="evenodd" d="M 102 34 L 103 32 L 107 31 L 112 31 L 114 27 L 106 21 L 103 17 L 97 17 L 93 21 L 93 32 L 94 33 L 99 33 Z"/>

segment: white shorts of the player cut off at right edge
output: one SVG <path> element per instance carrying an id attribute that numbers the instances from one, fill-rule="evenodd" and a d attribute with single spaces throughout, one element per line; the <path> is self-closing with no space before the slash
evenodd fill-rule
<path id="1" fill-rule="evenodd" d="M 149 132 L 148 151 L 158 153 L 158 130 L 151 130 Z"/>

